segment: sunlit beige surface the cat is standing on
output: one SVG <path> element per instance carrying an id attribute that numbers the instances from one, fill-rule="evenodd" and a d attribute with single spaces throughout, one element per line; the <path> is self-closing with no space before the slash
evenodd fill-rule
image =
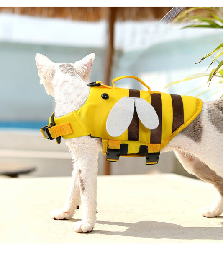
<path id="1" fill-rule="evenodd" d="M 98 177 L 93 232 L 50 218 L 66 199 L 70 178 L 0 178 L 0 243 L 222 243 L 223 216 L 205 218 L 215 189 L 175 174 Z"/>

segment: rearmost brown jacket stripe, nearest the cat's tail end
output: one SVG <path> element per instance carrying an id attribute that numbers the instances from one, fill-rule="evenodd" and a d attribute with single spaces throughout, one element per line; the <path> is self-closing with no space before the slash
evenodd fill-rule
<path id="1" fill-rule="evenodd" d="M 173 127 L 172 132 L 184 123 L 184 105 L 180 95 L 170 94 L 173 105 Z"/>

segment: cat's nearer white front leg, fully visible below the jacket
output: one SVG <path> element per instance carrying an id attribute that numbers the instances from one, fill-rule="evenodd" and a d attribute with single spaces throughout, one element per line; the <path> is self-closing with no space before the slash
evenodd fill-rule
<path id="1" fill-rule="evenodd" d="M 100 150 L 98 139 L 81 137 L 70 140 L 74 165 L 82 203 L 82 220 L 74 225 L 75 232 L 90 232 L 95 226 L 97 212 L 97 157 Z"/>

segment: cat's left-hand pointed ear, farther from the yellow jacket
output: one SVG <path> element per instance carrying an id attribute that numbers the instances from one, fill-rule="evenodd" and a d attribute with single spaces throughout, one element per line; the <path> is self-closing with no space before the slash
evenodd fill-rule
<path id="1" fill-rule="evenodd" d="M 35 60 L 40 83 L 44 85 L 46 92 L 54 97 L 52 80 L 55 74 L 55 63 L 40 53 L 36 54 Z"/>

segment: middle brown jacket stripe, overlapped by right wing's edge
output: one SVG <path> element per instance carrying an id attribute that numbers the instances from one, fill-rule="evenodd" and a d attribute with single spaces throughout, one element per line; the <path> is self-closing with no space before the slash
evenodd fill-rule
<path id="1" fill-rule="evenodd" d="M 159 118 L 159 125 L 150 131 L 150 143 L 161 143 L 162 141 L 162 99 L 159 93 L 151 94 L 151 105 L 154 107 Z M 148 117 L 149 118 L 149 117 Z"/>

